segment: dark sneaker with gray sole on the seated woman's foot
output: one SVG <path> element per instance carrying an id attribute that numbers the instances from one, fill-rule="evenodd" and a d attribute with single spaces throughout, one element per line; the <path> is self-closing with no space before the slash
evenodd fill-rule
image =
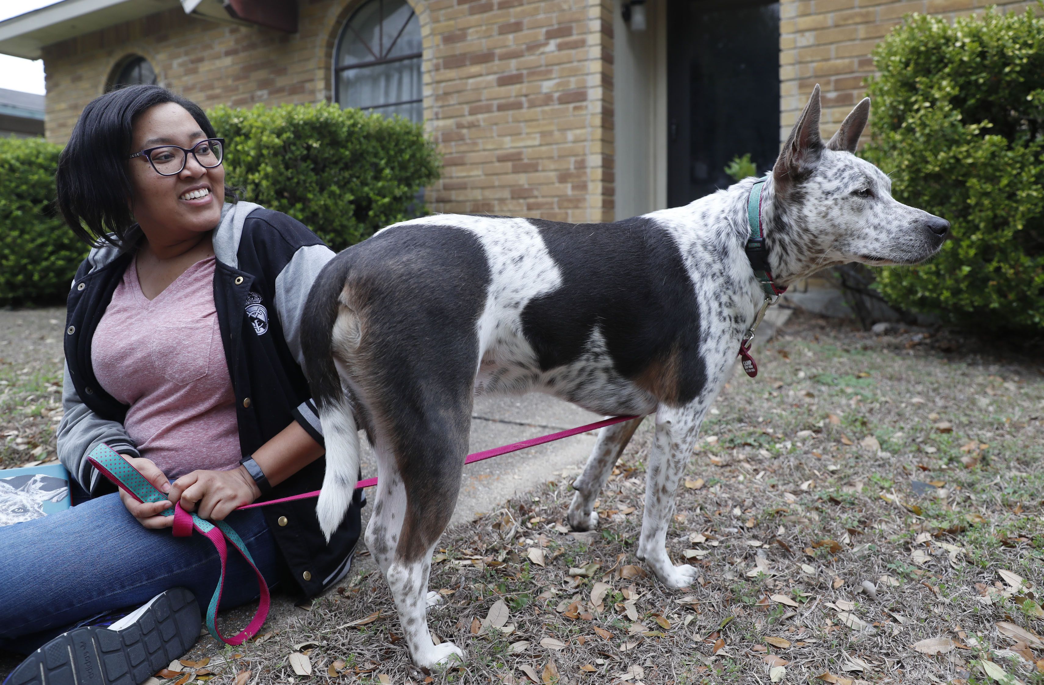
<path id="1" fill-rule="evenodd" d="M 108 628 L 58 635 L 30 654 L 4 685 L 140 685 L 192 649 L 199 625 L 195 596 L 176 587 Z"/>

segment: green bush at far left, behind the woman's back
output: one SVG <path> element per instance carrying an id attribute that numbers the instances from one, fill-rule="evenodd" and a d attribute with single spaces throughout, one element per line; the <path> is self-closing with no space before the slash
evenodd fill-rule
<path id="1" fill-rule="evenodd" d="M 0 138 L 0 304 L 53 303 L 87 255 L 54 207 L 62 146 Z"/>

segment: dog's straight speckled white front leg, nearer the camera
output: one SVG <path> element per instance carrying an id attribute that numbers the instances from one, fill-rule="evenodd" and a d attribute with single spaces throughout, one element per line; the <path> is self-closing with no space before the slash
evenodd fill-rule
<path id="1" fill-rule="evenodd" d="M 696 569 L 692 566 L 670 563 L 667 529 L 674 511 L 678 481 L 685 472 L 706 410 L 706 405 L 696 400 L 677 409 L 661 407 L 656 415 L 656 437 L 645 472 L 645 513 L 638 558 L 645 560 L 667 587 L 686 587 L 696 578 Z"/>

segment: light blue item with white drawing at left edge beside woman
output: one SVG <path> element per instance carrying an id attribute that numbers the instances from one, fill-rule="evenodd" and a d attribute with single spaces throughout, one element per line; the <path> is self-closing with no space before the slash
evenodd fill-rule
<path id="1" fill-rule="evenodd" d="M 0 470 L 0 525 L 69 509 L 69 471 L 62 464 Z"/>

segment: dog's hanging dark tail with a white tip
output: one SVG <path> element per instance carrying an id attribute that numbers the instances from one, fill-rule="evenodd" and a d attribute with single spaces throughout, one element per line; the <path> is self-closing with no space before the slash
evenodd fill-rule
<path id="1" fill-rule="evenodd" d="M 359 434 L 337 370 L 338 358 L 348 363 L 352 356 L 346 352 L 358 346 L 358 319 L 340 301 L 349 260 L 341 252 L 323 267 L 308 294 L 301 327 L 305 374 L 326 442 L 326 474 L 315 513 L 327 542 L 343 520 L 359 478 Z"/>

